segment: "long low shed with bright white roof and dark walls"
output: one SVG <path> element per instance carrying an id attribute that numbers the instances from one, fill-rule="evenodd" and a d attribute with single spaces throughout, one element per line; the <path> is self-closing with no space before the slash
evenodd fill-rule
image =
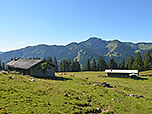
<path id="1" fill-rule="evenodd" d="M 120 77 L 120 78 L 130 78 L 131 76 L 138 76 L 138 70 L 113 70 L 106 69 L 105 72 L 109 77 Z"/>

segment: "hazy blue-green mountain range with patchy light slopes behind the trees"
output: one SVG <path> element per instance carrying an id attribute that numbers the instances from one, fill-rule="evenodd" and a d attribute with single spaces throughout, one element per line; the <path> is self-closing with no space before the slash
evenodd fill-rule
<path id="1" fill-rule="evenodd" d="M 133 56 L 135 57 L 138 51 L 141 54 L 146 53 L 147 50 L 152 50 L 152 43 L 132 43 L 121 42 L 119 40 L 106 41 L 101 38 L 91 37 L 86 41 L 77 43 L 73 42 L 68 45 L 37 45 L 28 46 L 22 49 L 1 52 L 0 58 L 3 62 L 8 62 L 11 58 L 30 58 L 47 56 L 57 57 L 58 61 L 62 59 L 74 60 L 78 59 L 80 64 L 84 64 L 86 58 L 92 61 L 93 58 L 98 59 L 102 56 L 107 62 L 111 57 L 114 57 L 117 62 L 122 58 L 125 60 Z"/>

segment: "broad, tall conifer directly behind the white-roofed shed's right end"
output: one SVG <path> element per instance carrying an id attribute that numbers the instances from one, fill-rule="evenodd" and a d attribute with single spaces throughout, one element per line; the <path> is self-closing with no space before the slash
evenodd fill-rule
<path id="1" fill-rule="evenodd" d="M 142 61 L 142 57 L 141 57 L 140 52 L 138 52 L 136 54 L 135 60 L 134 60 L 133 65 L 132 65 L 132 68 L 141 71 L 141 70 L 143 70 L 143 67 L 144 67 L 144 64 L 143 64 L 143 61 Z"/>

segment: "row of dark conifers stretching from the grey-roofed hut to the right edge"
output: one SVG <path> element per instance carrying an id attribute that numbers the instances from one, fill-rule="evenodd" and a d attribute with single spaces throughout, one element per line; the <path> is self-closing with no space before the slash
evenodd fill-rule
<path id="1" fill-rule="evenodd" d="M 84 67 L 80 67 L 80 64 L 77 59 L 73 60 L 65 60 L 60 61 L 59 71 L 60 72 L 75 72 L 75 71 L 104 71 L 105 69 L 127 69 L 127 70 L 150 70 L 152 69 L 152 53 L 147 51 L 144 58 L 142 58 L 141 53 L 138 52 L 135 56 L 130 56 L 125 61 L 122 58 L 121 62 L 118 63 L 112 57 L 110 61 L 107 63 L 101 56 L 96 60 L 90 62 L 89 58 L 86 59 Z"/>

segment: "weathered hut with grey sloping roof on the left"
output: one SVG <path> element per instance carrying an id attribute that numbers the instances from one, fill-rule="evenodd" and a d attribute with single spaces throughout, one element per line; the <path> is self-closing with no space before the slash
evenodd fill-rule
<path id="1" fill-rule="evenodd" d="M 55 65 L 48 63 L 49 68 L 46 70 L 45 74 L 42 71 L 41 64 L 45 62 L 44 60 L 34 60 L 34 59 L 13 59 L 6 64 L 8 71 L 17 71 L 23 75 L 30 75 L 38 78 L 53 78 L 55 77 Z"/>

